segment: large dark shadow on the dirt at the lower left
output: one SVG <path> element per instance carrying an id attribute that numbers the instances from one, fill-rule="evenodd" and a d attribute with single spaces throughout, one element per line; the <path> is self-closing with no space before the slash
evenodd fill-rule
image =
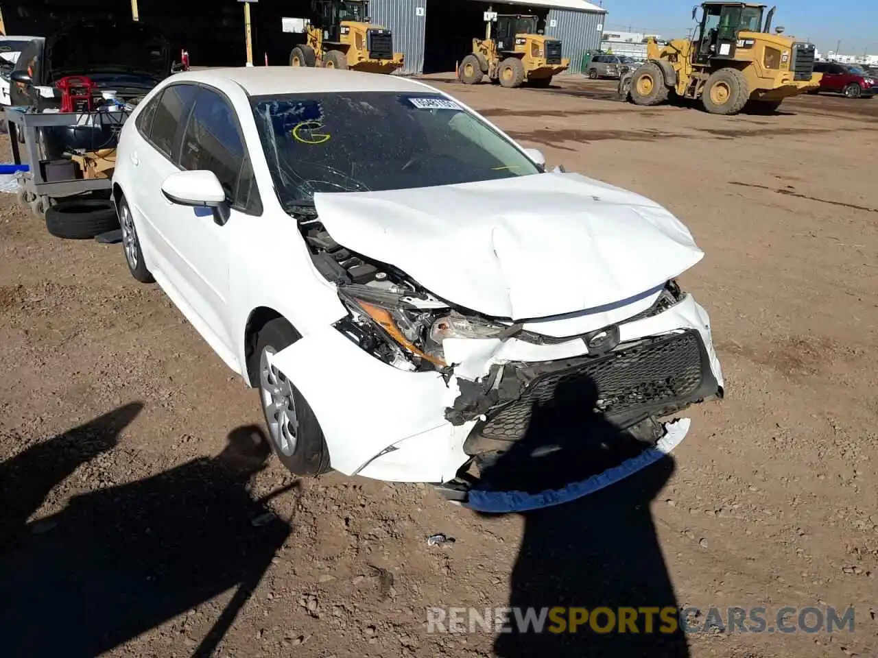
<path id="1" fill-rule="evenodd" d="M 255 426 L 230 433 L 216 457 L 72 497 L 26 525 L 48 491 L 111 449 L 138 411 L 126 405 L 0 464 L 0 515 L 12 538 L 0 550 L 4 656 L 103 654 L 234 590 L 210 631 L 177 629 L 164 647 L 211 655 L 290 535 L 248 493 L 270 452 Z"/>

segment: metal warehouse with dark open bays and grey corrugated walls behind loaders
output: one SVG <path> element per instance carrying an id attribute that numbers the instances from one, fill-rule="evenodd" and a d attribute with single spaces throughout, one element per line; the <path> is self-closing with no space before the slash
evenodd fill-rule
<path id="1" fill-rule="evenodd" d="M 286 64 L 302 35 L 284 32 L 284 17 L 311 14 L 311 0 L 250 0 L 254 61 Z M 587 0 L 371 0 L 373 23 L 391 28 L 393 46 L 406 54 L 401 73 L 450 72 L 485 35 L 485 11 L 540 14 L 546 34 L 562 41 L 562 56 L 579 72 L 582 55 L 601 46 L 606 12 Z M 214 0 L 210 11 L 178 0 L 0 0 L 8 34 L 47 33 L 80 18 L 130 19 L 156 25 L 194 66 L 241 66 L 246 61 L 243 3 Z"/>

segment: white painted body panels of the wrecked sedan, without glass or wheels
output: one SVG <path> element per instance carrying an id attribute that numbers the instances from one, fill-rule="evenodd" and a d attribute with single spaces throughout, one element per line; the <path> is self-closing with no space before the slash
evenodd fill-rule
<path id="1" fill-rule="evenodd" d="M 208 85 L 233 105 L 259 184 L 261 215 L 232 209 L 227 223 L 219 225 L 210 212 L 173 204 L 162 194 L 162 185 L 168 190 L 166 182 L 179 168 L 143 139 L 135 124 L 150 99 L 174 82 Z M 479 379 L 492 364 L 507 361 L 587 354 L 585 340 L 537 345 L 515 337 L 448 339 L 446 359 L 458 368 L 449 382 L 439 372 L 410 372 L 379 361 L 349 340 L 334 326 L 349 317 L 338 288 L 315 268 L 296 220 L 273 192 L 249 104 L 251 96 L 292 90 L 429 92 L 451 98 L 397 76 L 316 68 L 174 75 L 126 121 L 114 186 L 133 211 L 144 260 L 157 283 L 248 385 L 245 333 L 256 309 L 277 311 L 302 335 L 272 361 L 312 406 L 335 470 L 392 481 L 448 481 L 467 460 L 463 443 L 476 423 L 454 426 L 445 418 L 457 396 L 457 377 Z M 510 192 L 507 181 L 519 192 Z M 500 191 L 512 199 L 502 200 Z M 526 329 L 545 336 L 570 336 L 632 318 L 656 301 L 657 286 L 702 258 L 686 227 L 658 204 L 577 175 L 538 174 L 399 193 L 318 194 L 315 206 L 342 246 L 392 263 L 450 303 L 471 304 L 487 315 L 509 318 L 509 324 L 522 320 Z M 550 227 L 556 239 L 541 237 L 540 225 Z M 701 335 L 721 387 L 709 319 L 691 296 L 619 325 L 622 341 L 687 329 Z M 342 377 L 359 385 L 340 385 Z"/>

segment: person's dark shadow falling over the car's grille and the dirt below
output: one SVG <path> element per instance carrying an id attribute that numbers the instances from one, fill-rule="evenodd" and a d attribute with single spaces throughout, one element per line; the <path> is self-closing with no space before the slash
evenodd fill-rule
<path id="1" fill-rule="evenodd" d="M 567 402 L 565 396 L 570 397 Z M 582 398 L 581 383 L 578 390 L 562 384 L 555 395 L 561 404 L 536 407 L 527 435 L 483 471 L 484 481 L 498 490 L 521 490 L 522 483 L 531 492 L 553 489 L 643 452 L 643 444 L 591 411 L 597 399 L 594 389 L 588 397 Z M 650 512 L 651 500 L 673 468 L 673 459 L 665 457 L 592 495 L 522 513 L 524 534 L 510 580 L 509 607 L 523 615 L 528 608 L 538 613 L 563 606 L 585 609 L 588 616 L 575 612 L 582 621 L 575 633 L 570 610 L 548 617 L 543 631 L 533 633 L 517 627 L 513 612 L 509 632 L 496 637 L 498 655 L 688 655 L 685 635 L 659 617 L 665 610 L 675 620 L 677 602 Z M 596 608 L 603 612 L 592 619 Z M 623 608 L 631 612 L 621 612 Z M 630 617 L 633 611 L 637 632 L 630 625 L 620 628 L 621 614 Z M 652 619 L 651 632 L 647 617 Z M 558 619 L 565 619 L 563 629 Z"/>

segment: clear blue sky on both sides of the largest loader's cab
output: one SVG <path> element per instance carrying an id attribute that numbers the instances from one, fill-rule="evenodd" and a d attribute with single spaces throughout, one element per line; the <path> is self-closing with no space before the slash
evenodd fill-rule
<path id="1" fill-rule="evenodd" d="M 599 4 L 598 0 L 590 0 Z M 759 2 L 760 0 L 753 0 Z M 658 32 L 665 38 L 685 37 L 692 26 L 692 7 L 700 0 L 602 0 L 606 27 L 632 32 Z M 769 7 L 771 0 L 761 0 Z M 878 0 L 775 0 L 774 24 L 788 35 L 809 39 L 821 53 L 878 54 Z"/>

